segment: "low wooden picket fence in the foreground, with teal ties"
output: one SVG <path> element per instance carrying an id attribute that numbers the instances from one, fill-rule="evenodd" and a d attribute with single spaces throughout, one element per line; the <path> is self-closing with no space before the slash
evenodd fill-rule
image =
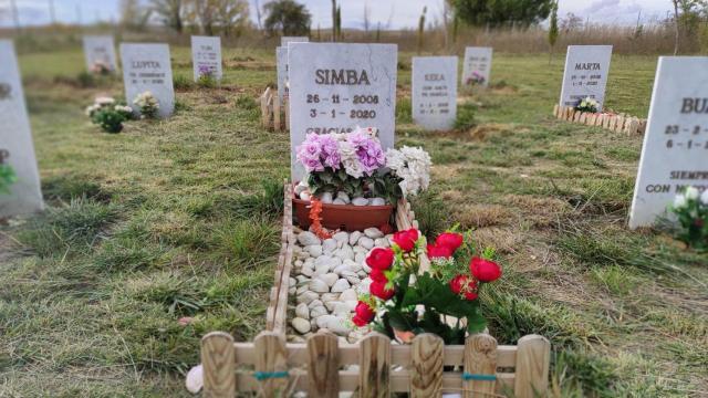
<path id="1" fill-rule="evenodd" d="M 228 333 L 214 332 L 201 341 L 206 397 L 235 397 L 251 391 L 260 397 L 289 397 L 306 391 L 311 398 L 414 398 L 458 392 L 466 398 L 544 397 L 551 348 L 542 336 L 528 335 L 516 346 L 497 345 L 487 334 L 469 336 L 465 345 L 444 345 L 433 334 L 410 345 L 392 344 L 371 333 L 356 344 L 340 343 L 321 332 L 306 343 L 285 343 L 282 334 L 262 332 L 252 343 L 235 343 Z M 356 366 L 352 366 L 356 365 Z"/>

